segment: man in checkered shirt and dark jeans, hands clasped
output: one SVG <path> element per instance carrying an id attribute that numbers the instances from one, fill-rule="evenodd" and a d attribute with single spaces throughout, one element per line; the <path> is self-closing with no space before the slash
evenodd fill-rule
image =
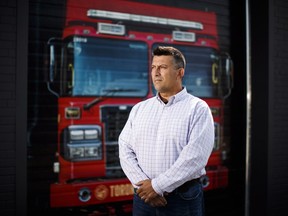
<path id="1" fill-rule="evenodd" d="M 136 104 L 119 136 L 123 171 L 135 187 L 133 215 L 203 215 L 199 178 L 214 143 L 208 105 L 182 86 L 185 58 L 173 47 L 153 51 L 157 95 Z"/>

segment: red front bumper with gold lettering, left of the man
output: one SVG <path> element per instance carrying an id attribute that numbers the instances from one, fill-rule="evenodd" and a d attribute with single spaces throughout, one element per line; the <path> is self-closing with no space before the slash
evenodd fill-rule
<path id="1" fill-rule="evenodd" d="M 50 206 L 76 207 L 132 200 L 134 188 L 128 179 L 79 181 L 50 186 Z"/>

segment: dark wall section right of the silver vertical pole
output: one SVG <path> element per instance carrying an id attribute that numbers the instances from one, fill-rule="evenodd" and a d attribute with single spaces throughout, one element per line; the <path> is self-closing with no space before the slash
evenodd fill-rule
<path id="1" fill-rule="evenodd" d="M 284 216 L 288 210 L 288 2 L 250 3 L 250 213 Z"/>

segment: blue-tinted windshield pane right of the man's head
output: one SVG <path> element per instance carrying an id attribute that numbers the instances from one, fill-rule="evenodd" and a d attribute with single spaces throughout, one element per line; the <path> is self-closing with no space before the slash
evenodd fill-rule
<path id="1" fill-rule="evenodd" d="M 159 45 L 154 44 L 153 49 Z M 186 59 L 186 69 L 183 85 L 187 91 L 198 97 L 220 97 L 219 56 L 216 50 L 207 47 L 195 46 L 173 46 L 184 54 Z M 155 90 L 154 90 L 155 92 Z"/>

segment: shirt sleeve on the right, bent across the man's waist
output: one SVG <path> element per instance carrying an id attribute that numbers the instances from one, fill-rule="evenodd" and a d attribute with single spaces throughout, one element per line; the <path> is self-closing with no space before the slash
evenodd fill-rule
<path id="1" fill-rule="evenodd" d="M 166 172 L 152 179 L 152 187 L 159 195 L 172 192 L 185 182 L 199 178 L 205 171 L 214 145 L 214 122 L 204 101 L 197 104 L 194 113 L 190 116 L 187 145 Z"/>

